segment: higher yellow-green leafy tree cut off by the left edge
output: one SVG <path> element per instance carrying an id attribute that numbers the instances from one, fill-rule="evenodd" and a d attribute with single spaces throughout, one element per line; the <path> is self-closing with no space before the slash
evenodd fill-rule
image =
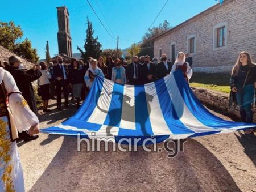
<path id="1" fill-rule="evenodd" d="M 23 36 L 23 31 L 20 26 L 16 26 L 13 21 L 9 23 L 0 22 L 0 45 L 14 51 L 16 40 Z"/>

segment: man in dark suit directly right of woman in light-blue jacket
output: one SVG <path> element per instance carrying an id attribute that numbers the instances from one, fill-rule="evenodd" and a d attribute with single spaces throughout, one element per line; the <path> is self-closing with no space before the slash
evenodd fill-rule
<path id="1" fill-rule="evenodd" d="M 138 62 L 138 56 L 133 57 L 133 63 L 130 63 L 126 69 L 127 82 L 131 85 L 142 84 L 142 65 Z"/>

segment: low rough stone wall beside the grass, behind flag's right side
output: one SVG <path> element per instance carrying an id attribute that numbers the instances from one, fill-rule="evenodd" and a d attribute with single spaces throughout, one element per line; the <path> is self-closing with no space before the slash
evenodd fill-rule
<path id="1" fill-rule="evenodd" d="M 240 113 L 238 106 L 234 108 L 229 107 L 229 94 L 221 93 L 217 91 L 212 91 L 204 88 L 191 87 L 192 91 L 195 93 L 196 97 L 204 105 L 210 105 L 213 108 L 221 110 L 225 115 L 234 116 L 240 118 Z M 253 106 L 253 120 L 256 122 L 256 108 Z"/>

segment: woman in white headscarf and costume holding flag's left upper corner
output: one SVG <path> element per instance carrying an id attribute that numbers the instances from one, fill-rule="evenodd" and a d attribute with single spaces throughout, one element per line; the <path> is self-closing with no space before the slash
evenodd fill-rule
<path id="1" fill-rule="evenodd" d="M 97 60 L 91 59 L 89 64 L 89 69 L 86 71 L 84 76 L 84 81 L 86 83 L 86 86 L 89 89 L 92 88 L 93 81 L 98 75 L 104 77 L 103 72 L 97 66 Z"/>

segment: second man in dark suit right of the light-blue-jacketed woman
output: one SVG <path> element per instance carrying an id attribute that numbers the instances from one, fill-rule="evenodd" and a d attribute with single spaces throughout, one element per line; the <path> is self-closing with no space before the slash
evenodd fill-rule
<path id="1" fill-rule="evenodd" d="M 145 62 L 142 65 L 143 83 L 154 82 L 156 79 L 156 65 L 150 61 L 150 56 L 145 56 Z"/>

